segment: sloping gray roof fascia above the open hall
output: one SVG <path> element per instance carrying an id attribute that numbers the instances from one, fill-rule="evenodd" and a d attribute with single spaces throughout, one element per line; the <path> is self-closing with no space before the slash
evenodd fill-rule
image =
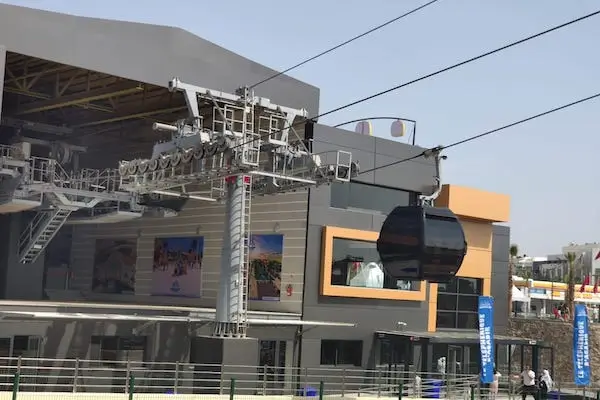
<path id="1" fill-rule="evenodd" d="M 6 4 L 0 4 L 0 37 L 8 51 L 163 87 L 178 76 L 231 93 L 276 73 L 182 29 Z M 319 89 L 289 76 L 264 83 L 256 94 L 318 113 Z"/>

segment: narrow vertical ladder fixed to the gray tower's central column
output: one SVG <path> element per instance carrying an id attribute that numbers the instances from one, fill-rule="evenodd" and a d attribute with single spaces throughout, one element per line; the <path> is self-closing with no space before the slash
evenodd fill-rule
<path id="1" fill-rule="evenodd" d="M 244 186 L 242 230 L 244 235 L 244 244 L 242 248 L 242 259 L 240 260 L 239 271 L 239 291 L 238 315 L 236 318 L 236 335 L 246 337 L 248 328 L 248 281 L 250 278 L 250 212 L 252 208 L 252 177 L 242 176 L 242 185 Z"/>

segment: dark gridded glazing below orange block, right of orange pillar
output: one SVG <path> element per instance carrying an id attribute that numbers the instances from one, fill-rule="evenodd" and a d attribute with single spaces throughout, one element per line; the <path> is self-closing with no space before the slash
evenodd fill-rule
<path id="1" fill-rule="evenodd" d="M 437 327 L 477 329 L 478 298 L 483 294 L 483 279 L 454 278 L 438 285 Z"/>

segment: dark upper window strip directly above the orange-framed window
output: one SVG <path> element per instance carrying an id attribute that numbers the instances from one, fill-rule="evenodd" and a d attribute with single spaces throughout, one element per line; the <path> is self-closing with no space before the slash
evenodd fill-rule
<path id="1" fill-rule="evenodd" d="M 411 193 L 364 183 L 333 183 L 331 207 L 377 211 L 389 214 L 397 206 L 408 206 Z"/>

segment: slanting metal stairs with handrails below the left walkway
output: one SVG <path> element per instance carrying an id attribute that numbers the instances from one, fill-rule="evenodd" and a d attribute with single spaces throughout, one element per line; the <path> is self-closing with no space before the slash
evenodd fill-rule
<path id="1" fill-rule="evenodd" d="M 39 257 L 67 222 L 71 212 L 71 209 L 57 207 L 36 213 L 19 238 L 19 260 L 22 264 L 33 263 Z"/>

